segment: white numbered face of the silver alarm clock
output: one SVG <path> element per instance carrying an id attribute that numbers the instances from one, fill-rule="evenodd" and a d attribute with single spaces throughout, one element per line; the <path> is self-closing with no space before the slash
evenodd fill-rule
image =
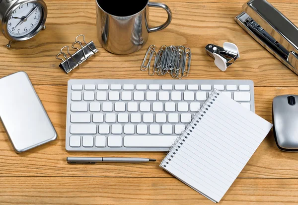
<path id="1" fill-rule="evenodd" d="M 43 20 L 43 9 L 38 3 L 19 5 L 9 16 L 8 34 L 15 38 L 24 37 L 35 31 Z"/>

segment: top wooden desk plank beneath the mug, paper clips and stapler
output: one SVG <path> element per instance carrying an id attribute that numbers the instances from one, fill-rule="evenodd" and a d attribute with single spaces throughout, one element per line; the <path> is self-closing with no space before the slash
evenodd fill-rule
<path id="1" fill-rule="evenodd" d="M 152 79 L 140 65 L 150 44 L 157 47 L 186 45 L 192 49 L 192 68 L 188 79 L 251 79 L 256 86 L 298 85 L 297 75 L 280 63 L 254 41 L 235 21 L 241 11 L 239 3 L 177 2 L 167 1 L 173 11 L 171 25 L 163 31 L 151 33 L 146 46 L 131 55 L 113 55 L 101 48 L 96 37 L 94 1 L 47 1 L 49 15 L 47 29 L 26 42 L 12 44 L 6 49 L 6 39 L 0 36 L 0 77 L 24 70 L 34 85 L 67 85 L 69 79 Z M 298 23 L 298 3 L 276 3 L 277 7 Z M 165 20 L 165 12 L 152 8 L 150 24 L 159 25 Z M 99 53 L 90 58 L 71 74 L 66 75 L 58 67 L 55 56 L 65 45 L 72 45 L 76 35 L 83 33 L 86 41 L 93 40 Z M 241 58 L 226 72 L 214 65 L 206 55 L 207 43 L 222 45 L 235 43 Z M 155 79 L 171 79 L 154 77 Z"/>

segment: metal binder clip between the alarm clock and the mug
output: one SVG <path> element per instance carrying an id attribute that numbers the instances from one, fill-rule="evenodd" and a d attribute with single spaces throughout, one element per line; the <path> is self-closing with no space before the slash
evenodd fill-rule
<path id="1" fill-rule="evenodd" d="M 85 45 L 82 45 L 82 42 L 78 40 L 78 38 L 82 36 L 83 42 Z M 75 44 L 78 44 L 78 48 L 75 47 Z M 70 57 L 68 57 L 67 53 L 63 50 L 67 48 L 67 53 Z M 89 43 L 86 43 L 85 36 L 80 34 L 76 36 L 75 41 L 73 43 L 72 48 L 76 49 L 77 51 L 72 55 L 70 54 L 70 47 L 64 46 L 60 53 L 56 56 L 58 60 L 62 60 L 62 63 L 59 65 L 59 67 L 68 74 L 72 70 L 74 70 L 77 66 L 85 62 L 88 58 L 93 56 L 95 53 L 98 52 L 98 49 L 95 47 L 93 41 L 90 41 Z M 59 56 L 63 55 L 63 58 L 60 58 Z"/>

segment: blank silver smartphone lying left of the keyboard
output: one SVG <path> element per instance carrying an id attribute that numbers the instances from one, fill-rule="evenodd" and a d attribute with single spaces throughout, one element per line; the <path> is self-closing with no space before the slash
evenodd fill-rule
<path id="1" fill-rule="evenodd" d="M 0 79 L 0 119 L 16 153 L 57 138 L 56 130 L 25 72 Z"/>

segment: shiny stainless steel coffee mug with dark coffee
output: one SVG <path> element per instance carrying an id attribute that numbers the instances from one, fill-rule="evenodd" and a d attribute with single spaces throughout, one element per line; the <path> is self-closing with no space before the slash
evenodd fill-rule
<path id="1" fill-rule="evenodd" d="M 171 9 L 149 0 L 96 0 L 97 36 L 104 49 L 115 54 L 130 54 L 140 50 L 149 33 L 166 28 L 172 20 Z M 168 19 L 160 26 L 149 28 L 149 7 L 166 10 Z"/>

